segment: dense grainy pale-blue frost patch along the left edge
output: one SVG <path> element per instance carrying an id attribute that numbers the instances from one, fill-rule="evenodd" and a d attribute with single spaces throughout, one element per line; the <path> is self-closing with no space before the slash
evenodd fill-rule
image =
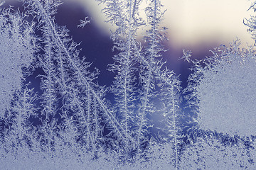
<path id="1" fill-rule="evenodd" d="M 22 68 L 33 61 L 33 26 L 18 12 L 0 11 L 0 116 L 10 108 L 14 91 L 20 89 Z"/>

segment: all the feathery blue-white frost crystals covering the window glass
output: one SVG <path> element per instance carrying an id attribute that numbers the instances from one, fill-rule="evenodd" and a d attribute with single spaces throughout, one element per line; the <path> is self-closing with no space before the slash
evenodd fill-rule
<path id="1" fill-rule="evenodd" d="M 145 20 L 142 0 L 96 1 L 115 26 L 111 86 L 55 23 L 62 1 L 0 4 L 0 169 L 255 169 L 254 46 L 236 40 L 203 60 L 183 50 L 192 74 L 181 89 L 162 57 L 161 1 L 146 1 Z M 244 23 L 255 39 L 255 17 Z"/>

